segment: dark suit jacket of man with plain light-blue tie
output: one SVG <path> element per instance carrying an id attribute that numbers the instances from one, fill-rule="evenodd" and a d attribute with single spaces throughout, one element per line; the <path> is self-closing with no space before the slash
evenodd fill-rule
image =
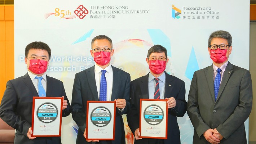
<path id="1" fill-rule="evenodd" d="M 28 74 L 10 80 L 6 84 L 6 90 L 0 105 L 0 117 L 8 125 L 17 130 L 14 144 L 61 144 L 60 137 L 28 139 L 27 132 L 32 123 L 33 96 L 38 96 L 38 93 Z M 62 111 L 62 117 L 70 114 L 70 104 L 62 81 L 47 76 L 46 96 L 64 96 L 68 102 L 68 106 Z"/>

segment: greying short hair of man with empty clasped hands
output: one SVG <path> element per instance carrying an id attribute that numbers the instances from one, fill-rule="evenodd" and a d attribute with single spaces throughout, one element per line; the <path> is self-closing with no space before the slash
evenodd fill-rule
<path id="1" fill-rule="evenodd" d="M 215 37 L 220 37 L 222 39 L 226 39 L 228 41 L 229 46 L 232 45 L 232 36 L 230 35 L 230 33 L 227 32 L 227 31 L 221 31 L 220 30 L 220 31 L 215 31 L 215 32 L 211 33 L 211 35 L 209 36 L 209 39 L 208 39 L 208 46 L 209 47 L 211 45 L 212 39 L 215 38 Z"/>

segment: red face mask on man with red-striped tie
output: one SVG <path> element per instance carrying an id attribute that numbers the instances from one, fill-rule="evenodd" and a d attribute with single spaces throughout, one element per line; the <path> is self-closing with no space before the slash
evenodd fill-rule
<path id="1" fill-rule="evenodd" d="M 166 61 L 160 61 L 156 59 L 155 61 L 149 60 L 149 69 L 154 74 L 160 74 L 165 70 Z"/>

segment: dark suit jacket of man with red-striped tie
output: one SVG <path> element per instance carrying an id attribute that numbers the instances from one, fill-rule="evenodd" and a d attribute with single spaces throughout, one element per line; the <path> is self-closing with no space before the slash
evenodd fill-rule
<path id="1" fill-rule="evenodd" d="M 169 86 L 171 85 L 171 86 Z M 175 76 L 168 75 L 165 72 L 165 98 L 175 98 L 176 107 L 168 109 L 168 130 L 165 144 L 180 144 L 180 129 L 177 123 L 177 117 L 183 117 L 187 110 L 185 100 L 185 83 Z M 127 114 L 127 121 L 131 131 L 140 127 L 140 99 L 149 99 L 149 74 L 133 80 L 131 82 L 131 109 Z M 150 144 L 151 139 L 142 138 L 135 140 L 135 144 Z"/>

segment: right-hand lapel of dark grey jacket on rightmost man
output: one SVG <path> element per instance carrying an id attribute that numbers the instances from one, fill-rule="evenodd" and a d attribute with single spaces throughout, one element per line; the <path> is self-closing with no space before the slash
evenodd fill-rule
<path id="1" fill-rule="evenodd" d="M 226 86 L 232 71 L 233 71 L 233 65 L 228 62 L 228 65 L 225 69 L 224 75 L 222 76 L 222 80 L 221 80 L 221 84 L 220 84 L 220 90 L 219 90 L 216 102 L 219 99 L 221 93 L 223 92 L 224 87 Z"/>

